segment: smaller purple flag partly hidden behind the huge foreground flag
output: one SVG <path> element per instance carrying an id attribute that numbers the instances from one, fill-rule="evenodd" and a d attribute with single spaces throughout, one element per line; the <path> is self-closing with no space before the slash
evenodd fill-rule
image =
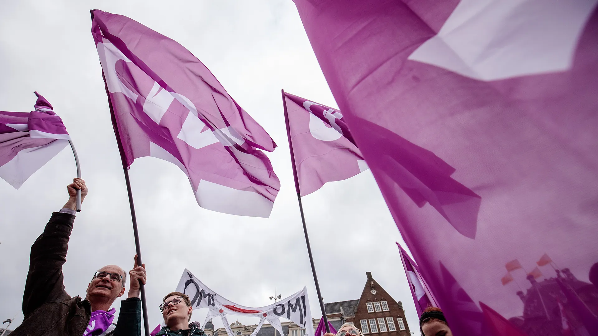
<path id="1" fill-rule="evenodd" d="M 301 196 L 368 169 L 339 110 L 283 94 Z"/>

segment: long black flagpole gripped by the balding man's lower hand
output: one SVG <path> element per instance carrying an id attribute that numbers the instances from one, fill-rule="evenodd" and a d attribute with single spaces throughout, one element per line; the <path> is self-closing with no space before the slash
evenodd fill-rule
<path id="1" fill-rule="evenodd" d="M 91 12 L 91 20 L 93 21 L 93 10 Z M 108 97 L 108 107 L 110 108 L 110 118 L 112 119 L 112 128 L 114 129 L 114 135 L 116 136 L 116 142 L 118 144 L 118 151 L 120 152 L 120 159 L 123 163 L 124 181 L 127 184 L 127 193 L 129 194 L 129 206 L 131 208 L 131 219 L 133 221 L 133 236 L 135 236 L 135 251 L 137 252 L 137 264 L 141 266 L 141 247 L 139 246 L 139 232 L 137 230 L 137 217 L 135 216 L 135 205 L 133 204 L 133 192 L 131 191 L 131 183 L 129 181 L 129 169 L 127 169 L 127 161 L 124 156 L 123 143 L 120 140 L 120 134 L 118 132 L 118 125 L 116 124 L 116 117 L 114 116 L 114 109 L 112 108 L 112 100 L 110 99 L 110 93 L 108 91 L 108 84 L 106 84 L 106 77 L 102 70 L 102 79 L 104 80 L 104 88 L 106 89 L 106 96 Z M 139 289 L 141 291 L 141 312 L 144 316 L 144 332 L 145 336 L 149 336 L 149 321 L 148 321 L 148 310 L 147 303 L 145 302 L 145 285 L 139 281 Z"/>

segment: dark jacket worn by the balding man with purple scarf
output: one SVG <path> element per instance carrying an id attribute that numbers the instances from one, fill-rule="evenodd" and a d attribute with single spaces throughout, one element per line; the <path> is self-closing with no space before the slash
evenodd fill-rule
<path id="1" fill-rule="evenodd" d="M 23 323 L 14 336 L 81 336 L 89 325 L 91 305 L 65 291 L 62 265 L 75 216 L 54 212 L 44 233 L 31 246 L 29 273 L 23 293 Z M 121 302 L 112 336 L 141 335 L 141 300 Z"/>

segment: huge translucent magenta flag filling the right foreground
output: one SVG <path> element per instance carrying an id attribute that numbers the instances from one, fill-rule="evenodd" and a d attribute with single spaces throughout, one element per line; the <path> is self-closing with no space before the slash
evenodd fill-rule
<path id="1" fill-rule="evenodd" d="M 558 323 L 556 272 L 502 286 L 511 260 L 598 295 L 596 0 L 294 1 L 453 334 L 487 334 L 481 303 Z"/>

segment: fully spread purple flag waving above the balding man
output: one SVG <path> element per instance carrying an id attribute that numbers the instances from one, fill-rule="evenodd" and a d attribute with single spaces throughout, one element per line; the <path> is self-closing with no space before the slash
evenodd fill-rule
<path id="1" fill-rule="evenodd" d="M 274 150 L 270 135 L 182 45 L 128 17 L 92 14 L 126 166 L 142 156 L 170 161 L 202 208 L 269 217 L 280 182 L 259 149 Z"/>

